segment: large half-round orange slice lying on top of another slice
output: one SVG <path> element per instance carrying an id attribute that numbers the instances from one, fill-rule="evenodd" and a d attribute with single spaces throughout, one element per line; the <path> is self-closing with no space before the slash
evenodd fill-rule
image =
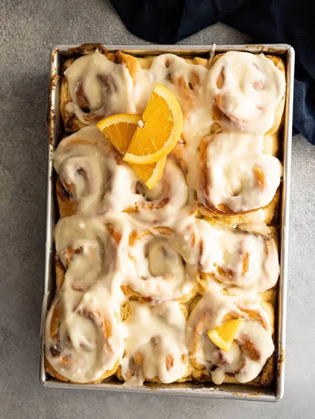
<path id="1" fill-rule="evenodd" d="M 176 97 L 157 83 L 124 160 L 137 165 L 158 162 L 175 147 L 183 125 L 183 113 Z"/>

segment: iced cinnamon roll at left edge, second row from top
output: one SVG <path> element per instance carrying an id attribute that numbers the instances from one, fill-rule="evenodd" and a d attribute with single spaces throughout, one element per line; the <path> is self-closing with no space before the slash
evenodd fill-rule
<path id="1" fill-rule="evenodd" d="M 95 126 L 65 137 L 54 153 L 61 216 L 122 212 L 136 200 L 138 176 Z"/>

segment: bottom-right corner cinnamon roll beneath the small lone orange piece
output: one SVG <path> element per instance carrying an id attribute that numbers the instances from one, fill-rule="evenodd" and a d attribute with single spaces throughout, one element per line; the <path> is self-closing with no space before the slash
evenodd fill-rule
<path id="1" fill-rule="evenodd" d="M 268 311 L 266 311 L 268 310 Z M 223 351 L 207 333 L 231 319 L 242 319 L 231 348 Z M 274 351 L 272 340 L 273 309 L 266 303 L 244 301 L 207 292 L 193 308 L 187 325 L 186 344 L 193 366 L 193 377 L 200 381 L 248 383 L 264 368 Z M 264 381 L 272 380 L 268 364 Z"/>

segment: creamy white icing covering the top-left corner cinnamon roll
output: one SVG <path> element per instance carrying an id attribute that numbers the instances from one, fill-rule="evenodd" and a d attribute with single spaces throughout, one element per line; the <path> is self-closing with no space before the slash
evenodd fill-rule
<path id="1" fill-rule="evenodd" d="M 126 65 L 116 64 L 94 51 L 76 59 L 64 75 L 72 99 L 67 111 L 81 122 L 89 124 L 115 113 L 134 113 L 133 83 Z M 88 112 L 81 109 L 78 95 L 85 98 Z"/>

